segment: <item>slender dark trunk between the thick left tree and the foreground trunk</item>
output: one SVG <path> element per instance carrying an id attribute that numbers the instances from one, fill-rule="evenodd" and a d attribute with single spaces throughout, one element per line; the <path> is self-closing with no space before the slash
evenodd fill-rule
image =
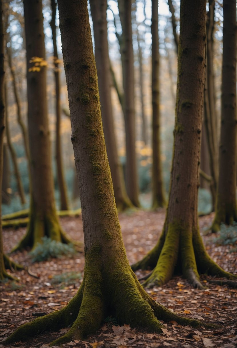
<path id="1" fill-rule="evenodd" d="M 59 76 L 59 59 L 57 50 L 57 38 L 56 38 L 56 3 L 55 0 L 51 0 L 52 19 L 50 26 L 52 30 L 52 41 L 54 46 L 54 76 L 55 76 L 55 91 L 56 91 L 56 164 L 57 164 L 57 180 L 58 188 L 60 192 L 60 210 L 68 210 L 68 199 L 66 183 L 64 179 L 63 161 L 62 161 L 62 147 L 60 136 L 60 122 L 61 122 L 61 103 L 60 103 L 60 76 Z"/>

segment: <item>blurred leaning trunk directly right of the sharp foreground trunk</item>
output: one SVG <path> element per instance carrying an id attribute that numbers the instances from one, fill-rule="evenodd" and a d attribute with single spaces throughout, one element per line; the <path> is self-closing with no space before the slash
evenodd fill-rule
<path id="1" fill-rule="evenodd" d="M 106 0 L 90 0 L 95 38 L 95 60 L 98 74 L 101 114 L 115 202 L 118 211 L 132 206 L 125 190 L 122 166 L 119 162 L 111 100 L 111 73 L 108 51 Z"/>

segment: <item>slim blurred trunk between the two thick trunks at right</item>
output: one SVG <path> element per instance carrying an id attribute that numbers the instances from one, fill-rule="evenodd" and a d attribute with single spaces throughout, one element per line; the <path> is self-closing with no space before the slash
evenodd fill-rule
<path id="1" fill-rule="evenodd" d="M 218 182 L 218 132 L 215 108 L 215 83 L 213 64 L 215 1 L 209 1 L 209 11 L 206 17 L 206 81 L 204 89 L 204 125 L 206 129 L 207 145 L 209 149 L 210 174 L 212 181 L 210 190 L 213 210 L 216 202 L 216 188 Z"/>

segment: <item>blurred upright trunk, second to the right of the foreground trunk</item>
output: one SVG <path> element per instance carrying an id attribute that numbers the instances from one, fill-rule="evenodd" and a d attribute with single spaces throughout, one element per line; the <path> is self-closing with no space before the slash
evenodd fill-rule
<path id="1" fill-rule="evenodd" d="M 124 89 L 124 121 L 126 140 L 125 184 L 128 196 L 134 206 L 139 207 L 138 178 L 136 161 L 136 127 L 134 104 L 134 69 L 132 47 L 132 15 L 131 0 L 119 0 L 118 8 L 123 30 L 122 64 Z"/>

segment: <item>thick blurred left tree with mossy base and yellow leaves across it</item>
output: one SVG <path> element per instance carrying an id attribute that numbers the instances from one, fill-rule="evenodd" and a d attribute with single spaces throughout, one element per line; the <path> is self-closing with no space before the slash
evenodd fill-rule
<path id="1" fill-rule="evenodd" d="M 46 61 L 41 1 L 24 1 L 28 135 L 32 199 L 26 235 L 14 248 L 35 247 L 43 236 L 68 242 L 56 215 L 46 96 Z"/>

